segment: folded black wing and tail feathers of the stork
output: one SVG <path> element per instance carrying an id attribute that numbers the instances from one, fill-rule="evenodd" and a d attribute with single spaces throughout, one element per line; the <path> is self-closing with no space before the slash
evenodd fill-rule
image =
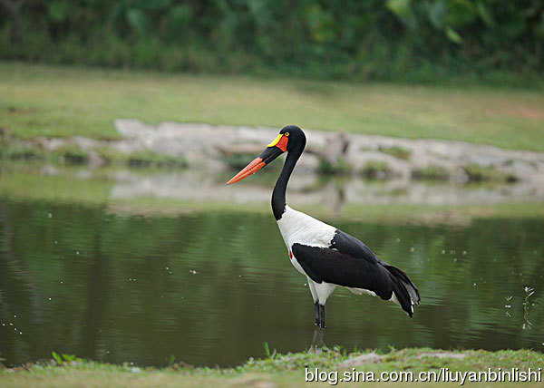
<path id="1" fill-rule="evenodd" d="M 419 292 L 400 269 L 377 257 L 364 243 L 336 230 L 329 248 L 294 244 L 293 255 L 316 283 L 325 281 L 338 286 L 363 288 L 389 300 L 394 292 L 399 304 L 410 316 L 412 304 L 420 302 Z"/>

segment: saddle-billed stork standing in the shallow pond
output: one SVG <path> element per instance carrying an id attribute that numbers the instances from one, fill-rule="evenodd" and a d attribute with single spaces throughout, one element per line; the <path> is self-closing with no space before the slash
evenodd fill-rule
<path id="1" fill-rule="evenodd" d="M 325 327 L 325 303 L 336 286 L 355 295 L 369 294 L 391 300 L 413 315 L 419 291 L 399 268 L 385 263 L 362 241 L 287 206 L 287 181 L 306 146 L 306 135 L 296 125 L 284 127 L 276 140 L 228 184 L 247 178 L 287 151 L 287 158 L 272 192 L 272 211 L 287 245 L 293 266 L 307 277 L 316 307 L 316 325 Z"/>

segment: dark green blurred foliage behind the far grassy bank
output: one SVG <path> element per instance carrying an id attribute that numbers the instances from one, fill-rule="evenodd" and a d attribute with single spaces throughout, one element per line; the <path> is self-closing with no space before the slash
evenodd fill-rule
<path id="1" fill-rule="evenodd" d="M 19 3 L 17 12 L 7 6 Z M 542 85 L 544 12 L 538 0 L 0 4 L 10 11 L 0 13 L 4 59 L 194 73 Z"/>

